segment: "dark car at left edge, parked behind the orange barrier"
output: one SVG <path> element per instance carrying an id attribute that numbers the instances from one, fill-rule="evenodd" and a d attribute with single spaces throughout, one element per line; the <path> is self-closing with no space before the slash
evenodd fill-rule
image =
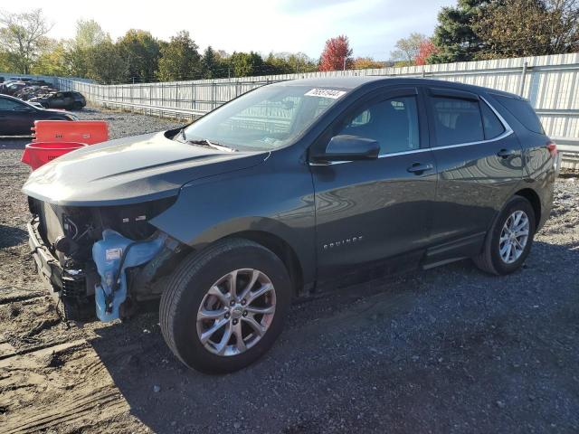
<path id="1" fill-rule="evenodd" d="M 0 136 L 30 136 L 35 120 L 78 120 L 66 111 L 39 109 L 8 95 L 0 95 Z"/>

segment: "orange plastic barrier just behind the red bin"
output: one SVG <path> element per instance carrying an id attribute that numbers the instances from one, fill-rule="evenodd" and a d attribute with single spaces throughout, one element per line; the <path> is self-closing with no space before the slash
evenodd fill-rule
<path id="1" fill-rule="evenodd" d="M 33 142 L 78 142 L 93 145 L 109 140 L 104 120 L 36 120 Z"/>

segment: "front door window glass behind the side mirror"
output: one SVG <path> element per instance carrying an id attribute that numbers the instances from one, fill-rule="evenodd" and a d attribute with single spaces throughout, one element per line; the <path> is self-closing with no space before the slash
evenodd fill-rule
<path id="1" fill-rule="evenodd" d="M 338 135 L 371 138 L 380 145 L 380 155 L 420 147 L 416 97 L 385 99 L 356 110 Z"/>

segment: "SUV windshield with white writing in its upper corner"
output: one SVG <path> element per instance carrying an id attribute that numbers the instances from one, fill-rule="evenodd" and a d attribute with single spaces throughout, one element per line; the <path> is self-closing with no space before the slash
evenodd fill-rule
<path id="1" fill-rule="evenodd" d="M 240 150 L 288 145 L 345 90 L 276 85 L 253 90 L 185 128 L 183 138 Z"/>

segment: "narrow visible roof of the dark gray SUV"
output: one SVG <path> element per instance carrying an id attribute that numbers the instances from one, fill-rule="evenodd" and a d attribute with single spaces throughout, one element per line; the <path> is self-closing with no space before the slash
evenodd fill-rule
<path id="1" fill-rule="evenodd" d="M 330 87 L 330 88 L 341 88 L 346 90 L 354 90 L 360 88 L 369 83 L 379 83 L 383 82 L 384 85 L 389 84 L 391 86 L 406 84 L 413 86 L 444 86 L 451 87 L 457 90 L 470 90 L 472 92 L 489 92 L 498 95 L 508 96 L 510 98 L 521 99 L 518 95 L 514 93 L 504 92 L 502 90 L 494 90 L 490 88 L 484 88 L 481 86 L 474 86 L 471 84 L 457 83 L 455 81 L 447 80 L 433 80 L 433 79 L 420 79 L 420 78 L 410 78 L 410 77 L 384 77 L 379 75 L 365 75 L 365 76 L 349 76 L 349 77 L 321 77 L 321 78 L 308 78 L 308 79 L 298 79 L 298 80 L 288 80 L 280 81 L 275 83 L 274 86 L 312 86 L 312 87 Z"/>

